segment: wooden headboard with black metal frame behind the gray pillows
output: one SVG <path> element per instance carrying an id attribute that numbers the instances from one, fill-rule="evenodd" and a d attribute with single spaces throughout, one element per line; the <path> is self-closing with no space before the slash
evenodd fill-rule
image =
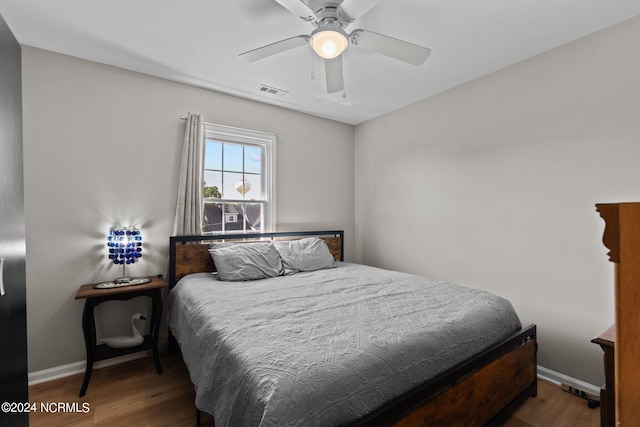
<path id="1" fill-rule="evenodd" d="M 169 238 L 169 289 L 187 274 L 215 271 L 209 245 L 215 242 L 255 243 L 265 240 L 296 240 L 318 237 L 327 242 L 336 261 L 344 261 L 344 231 L 291 231 L 242 233 L 206 236 L 174 236 Z"/>

